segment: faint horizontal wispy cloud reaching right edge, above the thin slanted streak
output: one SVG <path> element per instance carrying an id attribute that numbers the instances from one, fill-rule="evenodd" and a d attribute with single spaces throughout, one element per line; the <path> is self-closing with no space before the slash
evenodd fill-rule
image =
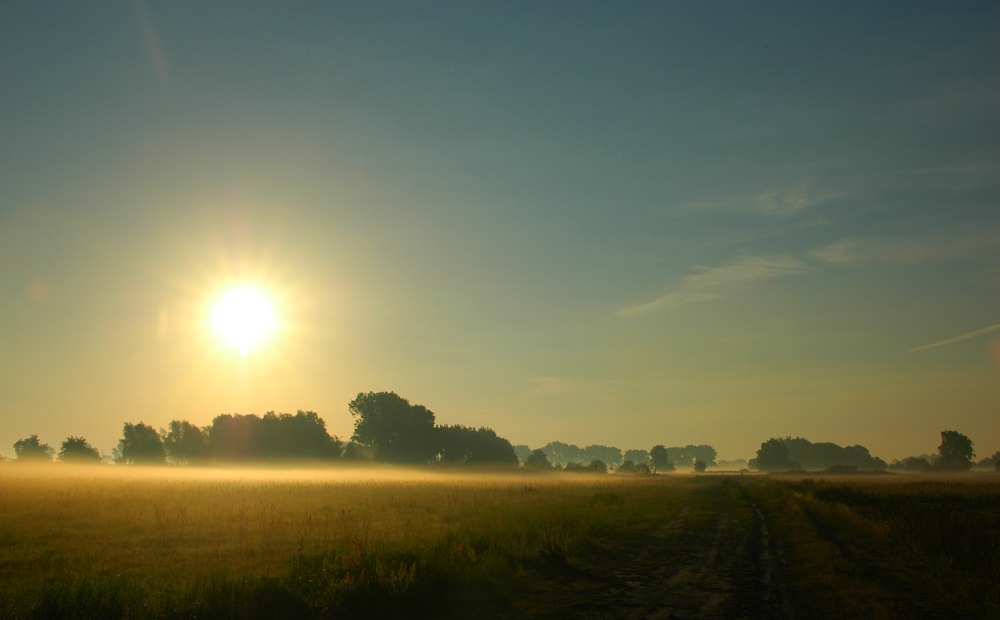
<path id="1" fill-rule="evenodd" d="M 842 239 L 809 254 L 830 263 L 919 265 L 974 258 L 1000 248 L 1000 237 L 983 234 L 916 238 Z"/>

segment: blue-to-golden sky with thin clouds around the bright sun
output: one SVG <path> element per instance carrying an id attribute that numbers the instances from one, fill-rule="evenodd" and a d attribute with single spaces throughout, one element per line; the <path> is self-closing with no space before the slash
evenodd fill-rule
<path id="1" fill-rule="evenodd" d="M 349 437 L 368 391 L 531 447 L 1000 450 L 995 2 L 10 2 L 0 89 L 8 457 Z"/>

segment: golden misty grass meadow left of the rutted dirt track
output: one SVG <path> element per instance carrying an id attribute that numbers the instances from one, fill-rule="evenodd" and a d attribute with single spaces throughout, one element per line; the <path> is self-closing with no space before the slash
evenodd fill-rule
<path id="1" fill-rule="evenodd" d="M 6 476 L 9 618 L 553 617 L 684 481 Z"/>

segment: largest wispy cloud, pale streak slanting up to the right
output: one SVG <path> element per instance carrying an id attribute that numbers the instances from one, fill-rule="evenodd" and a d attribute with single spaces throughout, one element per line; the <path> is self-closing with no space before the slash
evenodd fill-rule
<path id="1" fill-rule="evenodd" d="M 804 273 L 805 270 L 805 265 L 788 255 L 741 256 L 721 267 L 699 268 L 697 273 L 686 276 L 677 288 L 666 295 L 623 308 L 617 314 L 631 316 L 719 299 L 754 284 Z"/>

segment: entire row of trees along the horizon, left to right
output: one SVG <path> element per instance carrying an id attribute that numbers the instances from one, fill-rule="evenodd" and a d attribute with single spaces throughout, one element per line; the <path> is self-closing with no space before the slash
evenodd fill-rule
<path id="1" fill-rule="evenodd" d="M 143 422 L 126 422 L 112 460 L 125 464 L 201 464 L 308 459 L 313 461 L 371 460 L 385 463 L 454 465 L 519 464 L 531 469 L 652 474 L 691 467 L 705 471 L 716 465 L 715 448 L 709 445 L 622 451 L 613 446 L 584 448 L 550 442 L 535 450 L 512 445 L 488 427 L 439 425 L 433 411 L 410 404 L 395 392 L 362 392 L 348 403 L 354 433 L 344 441 L 330 435 L 326 422 L 313 411 L 295 414 L 269 411 L 255 414 L 222 414 L 207 426 L 173 420 L 167 428 Z M 101 453 L 83 437 L 71 436 L 58 452 L 31 435 L 14 444 L 19 461 L 99 463 Z M 761 471 L 858 470 L 954 471 L 973 466 L 972 441 L 957 431 L 942 431 L 937 455 L 907 457 L 886 464 L 861 445 L 813 443 L 801 437 L 771 438 L 761 444 L 749 467 Z M 0 457 L 2 459 L 2 457 Z M 979 466 L 1000 468 L 1000 452 Z"/>

